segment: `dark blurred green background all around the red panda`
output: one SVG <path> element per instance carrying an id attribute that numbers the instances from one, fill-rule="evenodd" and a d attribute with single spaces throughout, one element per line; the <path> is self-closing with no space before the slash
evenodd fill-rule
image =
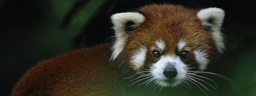
<path id="1" fill-rule="evenodd" d="M 38 61 L 111 41 L 109 17 L 150 3 L 181 4 L 192 9 L 224 9 L 224 55 L 208 71 L 218 90 L 208 96 L 256 96 L 256 20 L 252 1 L 224 0 L 0 0 L 1 96 L 9 96 L 18 79 Z M 208 86 L 209 87 L 209 86 Z M 171 96 L 206 96 L 185 89 Z"/>

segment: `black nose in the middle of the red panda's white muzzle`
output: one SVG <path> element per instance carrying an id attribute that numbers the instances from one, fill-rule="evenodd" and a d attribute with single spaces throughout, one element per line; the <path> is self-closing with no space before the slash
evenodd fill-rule
<path id="1" fill-rule="evenodd" d="M 167 65 L 166 68 L 163 70 L 163 75 L 168 79 L 172 79 L 177 76 L 177 70 L 175 66 L 172 64 Z"/>

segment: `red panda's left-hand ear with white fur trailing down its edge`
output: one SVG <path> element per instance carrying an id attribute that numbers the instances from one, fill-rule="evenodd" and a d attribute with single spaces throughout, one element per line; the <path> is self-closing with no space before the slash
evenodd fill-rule
<path id="1" fill-rule="evenodd" d="M 138 12 L 117 13 L 111 16 L 116 35 L 116 40 L 112 46 L 111 60 L 114 60 L 122 52 L 126 40 L 125 35 L 140 26 L 144 20 L 145 17 Z"/>

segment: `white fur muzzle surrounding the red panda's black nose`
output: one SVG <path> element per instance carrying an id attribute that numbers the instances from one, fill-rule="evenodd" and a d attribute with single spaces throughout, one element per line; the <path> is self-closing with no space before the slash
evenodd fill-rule
<path id="1" fill-rule="evenodd" d="M 165 80 L 167 79 L 164 75 L 163 75 L 163 71 L 166 68 L 166 66 L 168 65 L 168 62 L 170 62 L 170 64 L 173 64 L 177 70 L 177 76 L 175 77 L 175 82 L 173 84 L 170 84 L 168 82 L 166 82 Z M 153 64 L 150 67 L 151 75 L 154 76 L 155 79 L 157 79 L 157 84 L 163 86 L 163 87 L 168 87 L 168 86 L 176 86 L 177 84 L 180 83 L 180 81 L 182 81 L 182 79 L 185 78 L 186 76 L 186 68 L 187 65 L 184 64 L 181 60 L 180 57 L 171 57 L 171 56 L 166 56 L 166 57 L 161 57 L 159 61 L 157 61 L 157 63 Z"/>

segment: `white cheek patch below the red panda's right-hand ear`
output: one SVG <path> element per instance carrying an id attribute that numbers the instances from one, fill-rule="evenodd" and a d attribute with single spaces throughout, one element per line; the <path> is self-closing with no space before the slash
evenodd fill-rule
<path id="1" fill-rule="evenodd" d="M 195 59 L 198 61 L 198 63 L 200 64 L 200 69 L 204 70 L 207 67 L 208 64 L 208 59 L 207 59 L 207 53 L 202 52 L 200 49 L 196 49 L 194 51 L 195 53 Z"/>

